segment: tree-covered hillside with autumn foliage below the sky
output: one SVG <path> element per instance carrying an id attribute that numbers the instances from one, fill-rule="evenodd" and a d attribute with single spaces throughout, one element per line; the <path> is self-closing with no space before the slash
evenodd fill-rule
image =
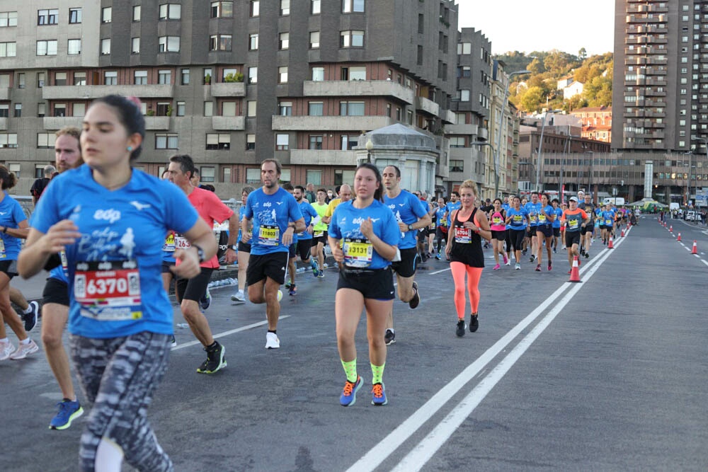
<path id="1" fill-rule="evenodd" d="M 543 108 L 570 111 L 612 105 L 612 52 L 587 57 L 585 48 L 578 55 L 559 50 L 530 54 L 513 51 L 496 59 L 506 64 L 506 71 L 531 71 L 527 76 L 514 76 L 509 87 L 509 100 L 519 110 L 533 113 Z M 582 95 L 564 100 L 563 92 L 556 87 L 566 76 L 583 84 Z"/>

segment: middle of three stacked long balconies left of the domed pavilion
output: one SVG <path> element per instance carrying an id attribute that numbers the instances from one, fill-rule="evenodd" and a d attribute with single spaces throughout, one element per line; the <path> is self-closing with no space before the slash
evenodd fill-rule
<path id="1" fill-rule="evenodd" d="M 273 116 L 273 131 L 356 131 L 379 129 L 396 121 L 387 116 Z"/>

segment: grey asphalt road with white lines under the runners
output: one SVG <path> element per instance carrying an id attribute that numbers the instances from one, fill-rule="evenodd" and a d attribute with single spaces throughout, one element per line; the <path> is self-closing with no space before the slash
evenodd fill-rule
<path id="1" fill-rule="evenodd" d="M 673 234 L 647 216 L 614 249 L 596 242 L 579 284 L 566 282 L 560 253 L 552 272 L 527 259 L 493 271 L 488 259 L 479 331 L 464 338 L 449 266 L 422 265 L 421 305 L 394 304 L 384 407 L 370 405 L 363 317 L 366 386 L 351 408 L 338 404 L 336 270 L 298 274 L 299 293 L 282 301 L 280 350 L 264 348 L 263 306 L 212 290 L 206 313 L 229 367 L 197 374 L 204 353 L 176 328 L 149 418 L 179 471 L 704 471 L 708 236 L 670 223 Z M 41 352 L 0 362 L 2 470 L 76 470 L 86 415 L 47 430 L 59 397 Z"/>

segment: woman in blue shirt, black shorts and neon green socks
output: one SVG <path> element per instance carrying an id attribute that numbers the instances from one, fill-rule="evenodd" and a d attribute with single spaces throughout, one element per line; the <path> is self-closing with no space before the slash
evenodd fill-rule
<path id="1" fill-rule="evenodd" d="M 362 309 L 366 309 L 369 362 L 372 372 L 372 405 L 386 405 L 383 374 L 386 344 L 379 334 L 393 309 L 394 284 L 390 260 L 400 239 L 394 214 L 381 202 L 382 180 L 370 163 L 361 164 L 354 174 L 356 199 L 340 205 L 329 227 L 329 246 L 338 263 L 335 295 L 337 347 L 346 382 L 339 403 L 351 406 L 364 384 L 357 374 L 355 334 Z M 342 244 L 341 244 L 342 243 Z"/>

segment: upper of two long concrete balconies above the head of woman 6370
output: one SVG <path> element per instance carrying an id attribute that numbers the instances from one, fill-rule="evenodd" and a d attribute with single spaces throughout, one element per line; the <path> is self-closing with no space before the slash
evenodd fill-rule
<path id="1" fill-rule="evenodd" d="M 53 85 L 42 87 L 45 100 L 93 100 L 111 93 L 139 98 L 171 98 L 171 85 Z"/>

